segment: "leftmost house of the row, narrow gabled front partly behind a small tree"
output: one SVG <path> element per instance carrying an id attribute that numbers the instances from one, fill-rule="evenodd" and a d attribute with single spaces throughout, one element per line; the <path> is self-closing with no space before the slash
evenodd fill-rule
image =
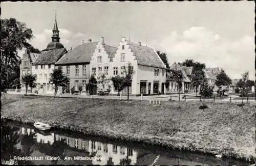
<path id="1" fill-rule="evenodd" d="M 20 84 L 22 84 L 22 77 L 25 74 L 32 74 L 32 64 L 37 60 L 37 58 L 40 56 L 39 53 L 30 52 L 29 50 L 25 50 L 25 53 L 23 54 L 23 57 L 21 59 L 21 63 L 19 65 L 19 71 L 20 71 Z M 21 91 L 25 92 L 26 88 L 25 85 L 22 84 Z M 32 92 L 32 88 L 28 87 L 28 91 Z"/>

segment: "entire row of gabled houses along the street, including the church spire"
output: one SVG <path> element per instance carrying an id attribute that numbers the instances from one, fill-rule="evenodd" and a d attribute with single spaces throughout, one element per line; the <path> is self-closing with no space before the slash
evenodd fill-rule
<path id="1" fill-rule="evenodd" d="M 127 93 L 131 95 L 177 93 L 178 84 L 169 77 L 172 68 L 183 72 L 181 93 L 196 92 L 196 88 L 191 86 L 193 67 L 174 63 L 170 69 L 167 69 L 156 50 L 142 45 L 141 42 L 132 42 L 122 37 L 119 45 L 115 47 L 106 44 L 102 37 L 99 41 L 89 39 L 68 51 L 59 42 L 56 18 L 52 32 L 52 42 L 47 45 L 47 48 L 40 53 L 26 51 L 20 64 L 20 78 L 26 73 L 36 75 L 37 86 L 34 90 L 38 93 L 54 93 L 50 74 L 53 69 L 60 67 L 62 72 L 70 78 L 66 93 L 71 93 L 72 88 L 78 91 L 81 86 L 81 94 L 86 94 L 86 85 L 93 75 L 98 80 L 94 94 L 109 92 L 109 94 L 116 95 L 118 92 L 114 89 L 111 78 L 124 75 L 128 64 L 131 65 L 134 74 L 132 83 L 127 85 L 129 92 L 127 87 L 124 87 L 121 92 L 124 95 Z M 216 75 L 219 72 L 220 68 L 205 70 L 209 85 L 215 84 Z M 104 80 L 102 80 L 103 75 Z M 165 87 L 166 80 L 170 82 L 169 87 Z M 22 90 L 25 90 L 24 85 L 22 85 Z M 59 90 L 61 91 L 61 88 Z"/>

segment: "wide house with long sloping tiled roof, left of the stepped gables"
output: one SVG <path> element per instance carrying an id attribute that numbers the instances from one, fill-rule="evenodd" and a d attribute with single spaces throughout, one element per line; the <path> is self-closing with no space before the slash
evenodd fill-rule
<path id="1" fill-rule="evenodd" d="M 67 84 L 66 93 L 79 90 L 82 86 L 82 94 L 86 93 L 86 84 L 90 79 L 90 61 L 93 56 L 99 41 L 93 42 L 91 39 L 86 43 L 81 43 L 74 49 L 67 52 L 55 65 L 61 67 L 63 73 L 70 78 Z"/>

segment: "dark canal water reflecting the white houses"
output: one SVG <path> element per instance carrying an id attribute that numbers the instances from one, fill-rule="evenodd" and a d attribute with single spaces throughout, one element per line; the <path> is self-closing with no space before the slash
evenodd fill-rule
<path id="1" fill-rule="evenodd" d="M 42 132 L 9 121 L 2 129 L 2 159 L 18 164 L 63 165 L 248 165 L 214 155 L 110 141 L 61 130 Z"/>

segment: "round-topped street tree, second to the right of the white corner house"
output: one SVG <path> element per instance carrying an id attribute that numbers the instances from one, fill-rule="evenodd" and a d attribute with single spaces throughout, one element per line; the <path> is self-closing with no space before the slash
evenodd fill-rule
<path id="1" fill-rule="evenodd" d="M 196 96 L 198 93 L 198 87 L 203 84 L 205 80 L 205 75 L 203 70 L 196 70 L 194 73 L 191 74 L 191 85 L 196 87 Z"/>

